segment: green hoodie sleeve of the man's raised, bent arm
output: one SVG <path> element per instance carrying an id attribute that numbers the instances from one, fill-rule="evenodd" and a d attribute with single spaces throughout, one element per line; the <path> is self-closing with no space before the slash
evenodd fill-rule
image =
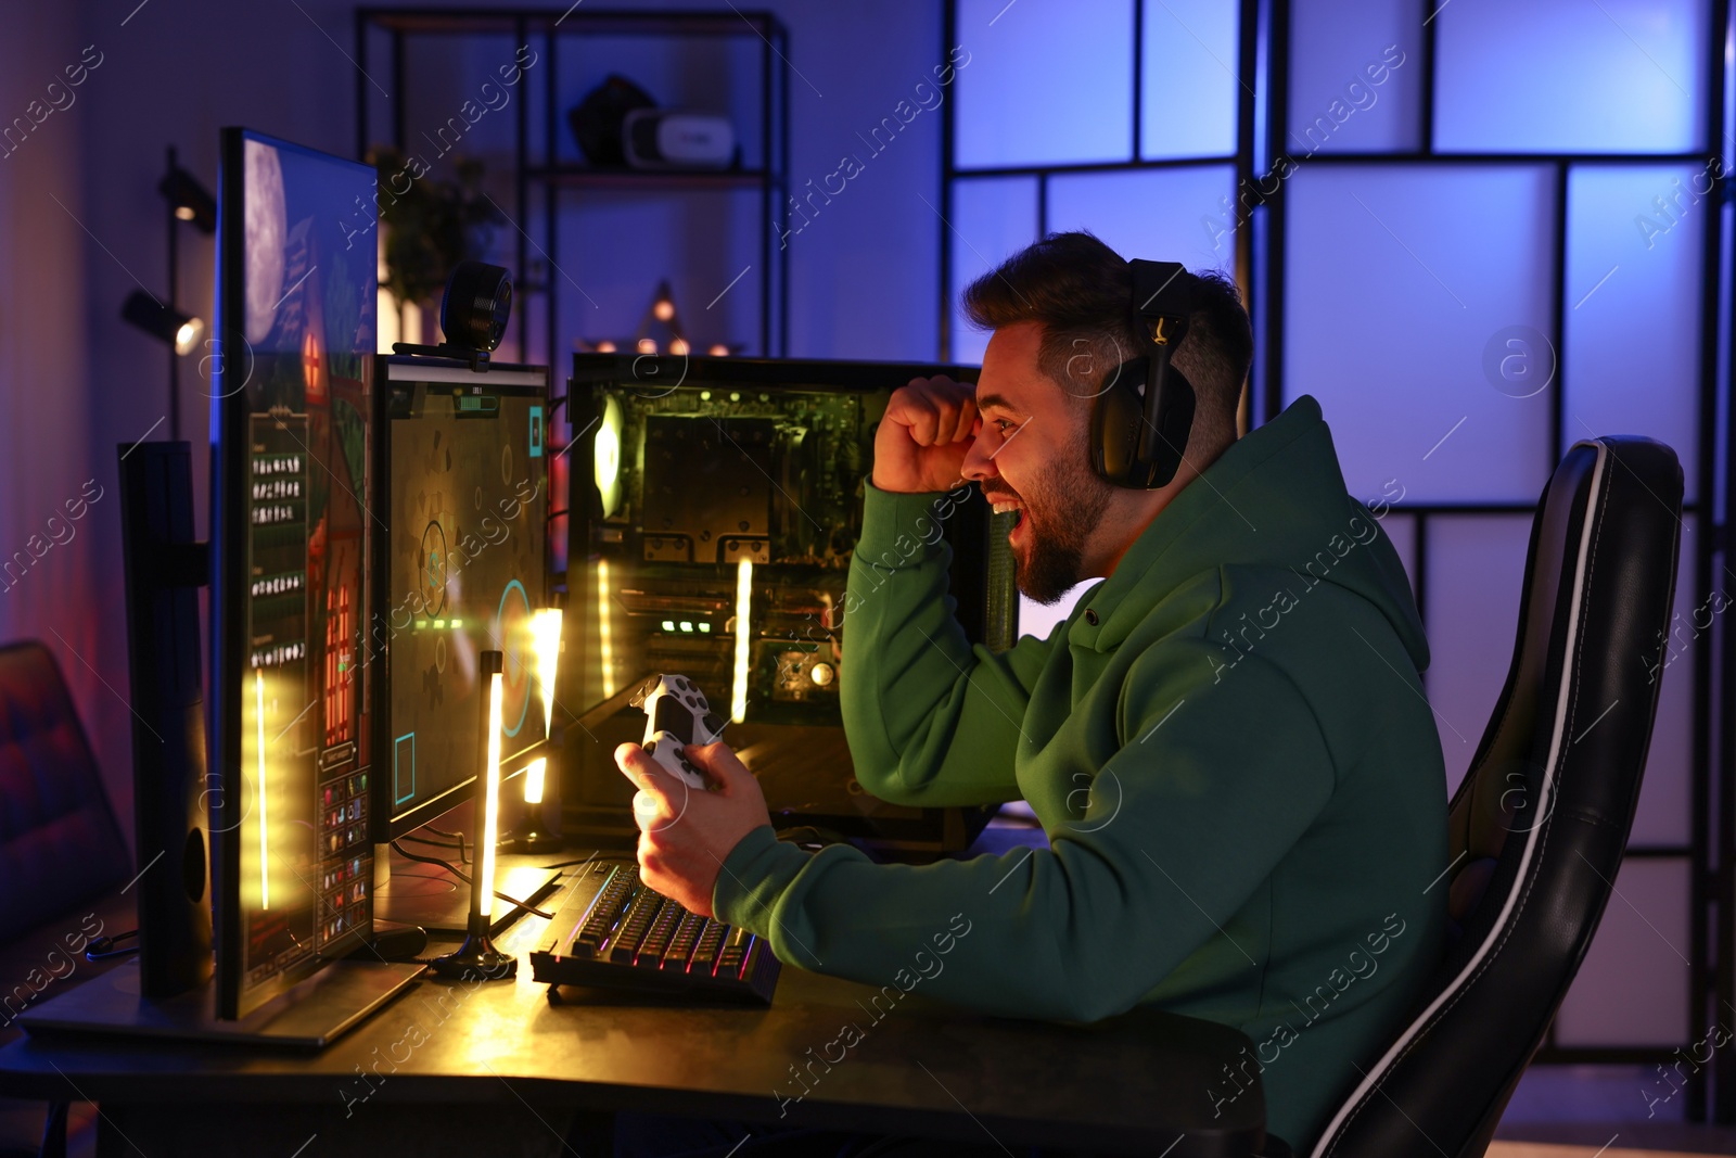
<path id="1" fill-rule="evenodd" d="M 972 646 L 948 595 L 943 531 L 967 488 L 901 495 L 868 486 L 844 595 L 838 693 L 856 780 L 918 807 L 1019 799 L 1019 720 L 1050 641 Z"/>

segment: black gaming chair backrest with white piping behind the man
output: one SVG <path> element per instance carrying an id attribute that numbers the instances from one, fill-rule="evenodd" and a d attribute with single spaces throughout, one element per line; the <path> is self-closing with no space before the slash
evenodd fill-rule
<path id="1" fill-rule="evenodd" d="M 1658 707 L 1682 467 L 1573 446 L 1531 524 L 1519 639 L 1450 807 L 1453 938 L 1314 1158 L 1483 1155 L 1614 887 Z"/>

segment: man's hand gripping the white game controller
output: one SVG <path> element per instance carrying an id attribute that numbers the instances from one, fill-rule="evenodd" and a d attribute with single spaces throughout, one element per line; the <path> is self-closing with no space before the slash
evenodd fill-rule
<path id="1" fill-rule="evenodd" d="M 639 785 L 639 878 L 687 911 L 712 917 L 712 891 L 724 858 L 745 835 L 771 823 L 766 797 L 729 745 L 689 745 L 687 759 L 715 785 L 689 788 L 635 743 L 615 750 L 621 773 Z"/>

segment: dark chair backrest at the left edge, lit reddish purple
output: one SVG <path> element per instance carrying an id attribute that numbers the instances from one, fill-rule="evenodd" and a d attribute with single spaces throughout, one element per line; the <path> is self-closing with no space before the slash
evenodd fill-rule
<path id="1" fill-rule="evenodd" d="M 0 941 L 130 875 L 61 667 L 36 641 L 0 648 Z"/>

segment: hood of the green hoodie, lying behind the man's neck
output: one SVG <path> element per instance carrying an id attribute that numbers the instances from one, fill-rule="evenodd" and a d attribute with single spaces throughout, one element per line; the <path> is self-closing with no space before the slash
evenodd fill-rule
<path id="1" fill-rule="evenodd" d="M 1382 498 L 1380 514 L 1401 495 Z M 1404 566 L 1375 514 L 1345 490 L 1332 431 L 1311 396 L 1238 439 L 1158 512 L 1115 575 L 1075 608 L 1068 642 L 1109 651 L 1177 587 L 1226 566 L 1342 587 L 1380 611 L 1418 672 L 1429 667 Z M 1087 604 L 1095 625 L 1083 618 Z"/>

